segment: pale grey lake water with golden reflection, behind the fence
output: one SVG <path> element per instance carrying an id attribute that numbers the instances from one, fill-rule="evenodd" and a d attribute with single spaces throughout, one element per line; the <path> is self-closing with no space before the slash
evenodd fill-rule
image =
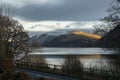
<path id="1" fill-rule="evenodd" d="M 64 55 L 77 55 L 84 67 L 108 66 L 109 59 L 102 55 L 109 53 L 101 48 L 42 48 L 31 52 L 44 55 L 49 64 L 55 65 L 64 64 Z"/>

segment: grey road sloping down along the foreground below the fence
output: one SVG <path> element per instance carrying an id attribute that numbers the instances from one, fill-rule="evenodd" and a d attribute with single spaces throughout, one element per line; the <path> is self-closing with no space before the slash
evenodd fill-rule
<path id="1" fill-rule="evenodd" d="M 55 78 L 57 80 L 80 80 L 76 78 L 61 76 L 61 75 L 55 75 L 55 74 L 49 74 L 49 73 L 43 73 L 39 71 L 33 71 L 33 70 L 27 70 L 27 69 L 16 69 L 17 71 L 24 71 L 31 75 L 32 77 L 46 77 L 46 78 Z"/>

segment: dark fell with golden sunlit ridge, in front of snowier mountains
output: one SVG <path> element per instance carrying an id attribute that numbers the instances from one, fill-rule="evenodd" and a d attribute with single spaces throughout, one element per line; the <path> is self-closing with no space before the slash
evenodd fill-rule
<path id="1" fill-rule="evenodd" d="M 81 31 L 72 31 L 44 42 L 45 47 L 96 47 L 101 36 Z"/>

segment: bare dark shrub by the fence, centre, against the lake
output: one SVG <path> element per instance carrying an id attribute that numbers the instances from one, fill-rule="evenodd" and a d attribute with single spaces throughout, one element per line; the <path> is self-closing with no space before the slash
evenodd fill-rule
<path id="1" fill-rule="evenodd" d="M 83 64 L 76 55 L 67 55 L 65 56 L 63 72 L 70 75 L 82 75 Z"/>

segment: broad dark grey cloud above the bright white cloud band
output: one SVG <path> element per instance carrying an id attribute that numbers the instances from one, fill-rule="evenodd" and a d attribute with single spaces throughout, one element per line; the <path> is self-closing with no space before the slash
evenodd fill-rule
<path id="1" fill-rule="evenodd" d="M 29 21 L 94 21 L 106 15 L 106 9 L 108 9 L 112 0 L 61 1 L 63 1 L 63 4 L 57 5 L 59 3 L 56 3 L 53 6 L 26 4 L 21 8 L 16 8 L 15 17 Z"/>

